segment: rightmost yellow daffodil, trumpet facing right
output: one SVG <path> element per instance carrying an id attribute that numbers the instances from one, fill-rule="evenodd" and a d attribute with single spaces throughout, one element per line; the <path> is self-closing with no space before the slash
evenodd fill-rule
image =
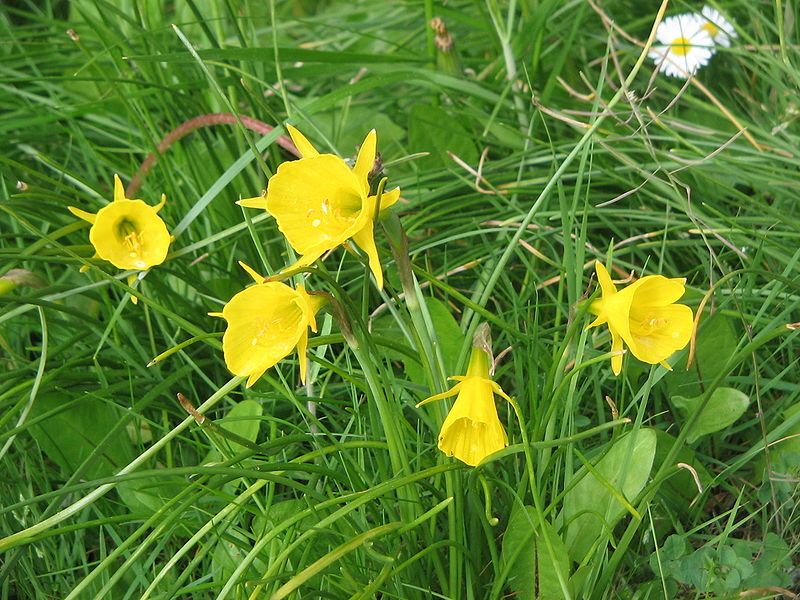
<path id="1" fill-rule="evenodd" d="M 597 318 L 587 329 L 608 325 L 614 374 L 622 371 L 623 344 L 642 362 L 669 369 L 666 359 L 689 343 L 694 327 L 692 309 L 675 304 L 686 291 L 686 279 L 648 275 L 618 292 L 601 262 L 595 269 L 603 295 L 589 306 Z"/>

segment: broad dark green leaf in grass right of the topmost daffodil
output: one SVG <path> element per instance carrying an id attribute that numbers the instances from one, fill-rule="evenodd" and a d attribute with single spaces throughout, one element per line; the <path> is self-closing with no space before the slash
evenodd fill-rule
<path id="1" fill-rule="evenodd" d="M 417 104 L 408 114 L 408 144 L 412 152 L 430 152 L 419 161 L 428 168 L 453 165 L 452 152 L 468 164 L 476 164 L 478 150 L 461 122 L 438 106 Z"/>

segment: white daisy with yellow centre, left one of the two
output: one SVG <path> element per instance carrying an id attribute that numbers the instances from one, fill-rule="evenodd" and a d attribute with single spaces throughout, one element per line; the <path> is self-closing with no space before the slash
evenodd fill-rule
<path id="1" fill-rule="evenodd" d="M 705 29 L 704 17 L 686 13 L 667 17 L 658 26 L 650 51 L 656 66 L 670 77 L 686 79 L 714 55 L 714 40 Z"/>

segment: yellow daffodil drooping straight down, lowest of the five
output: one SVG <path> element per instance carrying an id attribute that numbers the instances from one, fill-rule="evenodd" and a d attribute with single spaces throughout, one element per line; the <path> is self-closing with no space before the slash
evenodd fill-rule
<path id="1" fill-rule="evenodd" d="M 417 406 L 455 396 L 456 401 L 439 432 L 439 449 L 447 456 L 474 467 L 490 454 L 508 446 L 508 437 L 497 416 L 494 394 L 511 398 L 491 380 L 489 355 L 473 346 L 465 377 L 450 377 L 458 383 L 448 391 L 426 398 Z"/>

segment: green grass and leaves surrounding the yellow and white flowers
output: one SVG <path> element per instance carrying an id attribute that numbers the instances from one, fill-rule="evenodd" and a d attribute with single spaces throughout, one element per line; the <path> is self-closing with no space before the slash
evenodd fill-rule
<path id="1" fill-rule="evenodd" d="M 601 6 L 4 3 L 0 597 L 790 597 L 797 4 L 715 3 L 739 38 L 687 85 L 635 73 L 656 3 Z M 319 264 L 356 344 L 325 311 L 305 386 L 289 358 L 245 389 L 207 316 L 248 284 L 236 261 L 292 260 L 234 203 L 291 158 L 282 131 L 204 128 L 158 160 L 137 196 L 167 194 L 175 240 L 138 305 L 66 210 L 227 112 L 345 157 L 375 127 L 403 192 L 386 225 L 416 286 L 380 227 L 382 292 L 355 252 Z M 595 260 L 687 278 L 689 370 L 613 376 L 584 329 Z M 436 448 L 446 406 L 415 404 L 482 321 L 522 425 L 499 403 L 510 446 L 473 469 Z"/>

